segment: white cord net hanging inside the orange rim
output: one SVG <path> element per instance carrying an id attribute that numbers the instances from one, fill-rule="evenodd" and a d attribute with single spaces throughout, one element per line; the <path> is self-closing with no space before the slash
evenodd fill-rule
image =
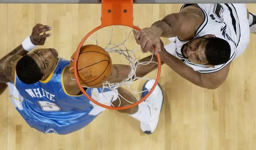
<path id="1" fill-rule="evenodd" d="M 149 90 L 151 90 L 147 89 L 143 91 L 142 87 L 139 88 L 140 85 L 138 84 L 143 83 L 143 81 L 141 80 L 144 80 L 144 83 L 147 80 L 155 82 L 155 80 L 153 79 L 156 79 L 157 69 L 152 71 L 145 77 L 138 77 L 136 75 L 136 70 L 140 65 L 148 65 L 150 63 L 155 63 L 158 65 L 158 63 L 156 61 L 152 61 L 154 56 L 153 54 L 151 54 L 151 60 L 139 62 L 138 58 L 141 57 L 141 55 L 145 54 L 142 54 L 140 50 L 140 45 L 136 43 L 132 30 L 132 28 L 126 26 L 109 26 L 97 30 L 84 42 L 83 45 L 96 44 L 105 49 L 109 53 L 113 65 L 124 64 L 130 66 L 130 73 L 127 78 L 125 78 L 121 82 L 116 83 L 110 83 L 109 81 L 106 81 L 105 83 L 103 83 L 100 97 L 96 96 L 96 98 L 95 96 L 92 96 L 94 100 L 100 101 L 100 99 L 104 97 L 104 99 L 108 100 L 109 105 L 114 106 L 112 102 L 114 100 L 119 100 L 119 105 L 115 107 L 127 106 L 133 104 L 134 102 L 119 94 L 118 88 L 122 87 L 129 91 L 137 99 L 137 101 L 140 99 L 140 95 L 142 92 L 148 92 Z M 138 82 L 138 80 L 140 80 L 140 82 Z M 117 99 L 113 99 L 113 97 L 108 97 L 108 95 L 105 94 L 106 92 L 104 92 L 106 89 L 107 91 L 109 91 L 109 89 L 111 91 L 114 91 L 117 95 Z M 93 88 L 89 88 L 88 90 L 91 90 L 91 92 L 93 92 Z M 122 101 L 126 101 L 128 102 L 128 104 L 126 103 L 126 105 L 123 105 Z"/>

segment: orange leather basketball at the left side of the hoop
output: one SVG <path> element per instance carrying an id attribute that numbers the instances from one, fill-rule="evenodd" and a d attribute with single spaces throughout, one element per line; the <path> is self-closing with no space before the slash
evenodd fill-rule
<path id="1" fill-rule="evenodd" d="M 71 56 L 69 72 L 75 78 L 74 57 Z M 81 47 L 78 60 L 77 70 L 79 82 L 82 86 L 98 87 L 107 81 L 112 71 L 112 61 L 103 48 L 97 45 L 84 45 Z"/>

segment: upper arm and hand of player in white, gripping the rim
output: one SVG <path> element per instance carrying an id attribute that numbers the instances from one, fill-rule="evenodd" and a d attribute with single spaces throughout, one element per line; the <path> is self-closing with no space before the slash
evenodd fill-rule
<path id="1" fill-rule="evenodd" d="M 161 51 L 160 37 L 179 36 L 181 40 L 189 40 L 194 37 L 197 28 L 204 21 L 204 13 L 197 5 L 191 5 L 182 9 L 179 13 L 172 13 L 162 20 L 156 21 L 150 28 L 140 30 L 135 39 L 140 44 L 143 52 L 153 49 Z"/>

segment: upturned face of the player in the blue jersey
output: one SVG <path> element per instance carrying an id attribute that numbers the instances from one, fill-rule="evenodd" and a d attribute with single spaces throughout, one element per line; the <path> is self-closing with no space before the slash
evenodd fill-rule
<path id="1" fill-rule="evenodd" d="M 43 79 L 47 78 L 52 73 L 58 62 L 58 52 L 51 48 L 36 49 L 28 55 L 32 57 L 40 67 L 44 74 Z"/>

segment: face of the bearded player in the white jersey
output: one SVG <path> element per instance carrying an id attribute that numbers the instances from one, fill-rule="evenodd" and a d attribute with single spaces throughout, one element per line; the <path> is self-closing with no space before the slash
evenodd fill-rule
<path id="1" fill-rule="evenodd" d="M 183 57 L 194 64 L 206 65 L 205 48 L 208 42 L 204 38 L 197 38 L 184 44 L 181 48 Z"/>

